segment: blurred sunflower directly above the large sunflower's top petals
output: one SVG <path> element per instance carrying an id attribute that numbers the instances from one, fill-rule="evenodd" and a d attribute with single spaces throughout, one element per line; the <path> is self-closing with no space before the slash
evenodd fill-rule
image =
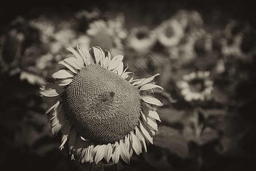
<path id="1" fill-rule="evenodd" d="M 108 21 L 99 19 L 90 23 L 86 31 L 86 34 L 90 37 L 89 47 L 99 46 L 103 50 L 110 51 L 113 55 L 122 54 L 123 39 L 126 38 L 123 24 L 124 18 L 122 15 Z"/>

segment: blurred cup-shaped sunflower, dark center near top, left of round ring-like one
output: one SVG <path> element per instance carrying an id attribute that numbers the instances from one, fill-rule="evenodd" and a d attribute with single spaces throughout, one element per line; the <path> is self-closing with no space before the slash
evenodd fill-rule
<path id="1" fill-rule="evenodd" d="M 127 46 L 138 53 L 144 54 L 150 51 L 156 40 L 155 31 L 150 31 L 147 27 L 133 28 L 127 40 Z"/>

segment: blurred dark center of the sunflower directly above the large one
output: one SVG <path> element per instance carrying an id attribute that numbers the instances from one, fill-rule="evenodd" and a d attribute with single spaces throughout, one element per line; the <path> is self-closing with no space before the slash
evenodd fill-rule
<path id="1" fill-rule="evenodd" d="M 114 47 L 114 41 L 107 32 L 102 31 L 91 38 L 90 47 L 93 46 L 99 46 L 103 50 L 110 50 L 111 47 Z"/>

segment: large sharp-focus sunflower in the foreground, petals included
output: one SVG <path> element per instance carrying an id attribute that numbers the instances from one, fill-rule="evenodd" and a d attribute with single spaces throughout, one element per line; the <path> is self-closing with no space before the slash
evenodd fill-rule
<path id="1" fill-rule="evenodd" d="M 91 47 L 89 51 L 77 46 L 67 50 L 74 57 L 59 62 L 66 70 L 51 75 L 54 83 L 41 86 L 41 96 L 49 102 L 46 113 L 53 134 L 62 133 L 59 148 L 68 141 L 71 160 L 97 164 L 103 158 L 117 164 L 119 158 L 127 164 L 135 152 L 147 152 L 153 144 L 159 119 L 153 105 L 163 105 L 150 96 L 151 81 L 129 79 L 132 72 L 123 70 L 123 56 L 111 58 L 109 51 Z"/>

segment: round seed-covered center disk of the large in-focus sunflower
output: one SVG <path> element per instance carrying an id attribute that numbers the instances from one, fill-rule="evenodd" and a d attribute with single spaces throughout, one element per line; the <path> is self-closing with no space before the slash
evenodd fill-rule
<path id="1" fill-rule="evenodd" d="M 133 131 L 141 111 L 138 89 L 98 64 L 82 68 L 74 76 L 63 103 L 81 136 L 105 144 Z"/>

